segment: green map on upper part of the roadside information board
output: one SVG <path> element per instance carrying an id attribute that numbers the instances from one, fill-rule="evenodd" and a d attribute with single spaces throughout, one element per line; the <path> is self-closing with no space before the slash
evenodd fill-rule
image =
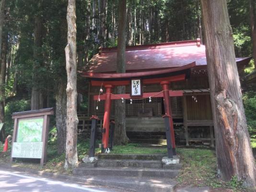
<path id="1" fill-rule="evenodd" d="M 43 121 L 43 118 L 19 120 L 16 142 L 41 142 Z"/>

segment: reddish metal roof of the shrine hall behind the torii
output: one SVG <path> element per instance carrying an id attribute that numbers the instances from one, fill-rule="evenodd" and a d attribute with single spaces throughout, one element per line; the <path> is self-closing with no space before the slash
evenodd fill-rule
<path id="1" fill-rule="evenodd" d="M 236 58 L 236 61 L 244 63 L 248 59 L 249 57 Z M 127 72 L 176 68 L 193 62 L 196 62 L 196 67 L 207 65 L 205 45 L 200 44 L 200 39 L 126 47 Z M 99 53 L 86 66 L 86 71 L 115 73 L 116 47 L 99 49 Z"/>

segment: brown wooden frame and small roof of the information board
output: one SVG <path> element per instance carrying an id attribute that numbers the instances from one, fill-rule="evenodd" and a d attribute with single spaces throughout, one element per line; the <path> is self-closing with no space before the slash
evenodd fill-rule
<path id="1" fill-rule="evenodd" d="M 13 152 L 13 143 L 17 141 L 17 134 L 19 129 L 19 120 L 32 120 L 43 118 L 43 130 L 42 130 L 42 158 L 40 159 L 40 164 L 43 166 L 46 163 L 47 159 L 47 141 L 48 141 L 48 130 L 49 130 L 49 115 L 53 115 L 53 108 L 46 108 L 40 110 L 33 111 L 25 111 L 25 112 L 16 112 L 12 113 L 12 119 L 14 119 L 14 128 L 13 128 L 13 136 L 12 136 L 12 152 Z M 11 153 L 11 163 L 13 161 L 12 153 Z"/>

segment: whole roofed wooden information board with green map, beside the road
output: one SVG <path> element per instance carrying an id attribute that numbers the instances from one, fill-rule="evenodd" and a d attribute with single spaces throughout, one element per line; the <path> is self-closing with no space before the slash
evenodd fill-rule
<path id="1" fill-rule="evenodd" d="M 53 108 L 12 113 L 11 162 L 13 158 L 38 158 L 42 166 L 46 163 L 49 115 L 53 114 Z"/>

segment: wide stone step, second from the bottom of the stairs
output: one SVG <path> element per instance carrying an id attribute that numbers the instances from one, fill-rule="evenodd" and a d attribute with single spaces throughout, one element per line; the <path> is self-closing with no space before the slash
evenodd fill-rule
<path id="1" fill-rule="evenodd" d="M 79 176 L 118 176 L 118 177 L 157 177 L 175 178 L 179 170 L 175 169 L 131 169 L 131 168 L 76 168 L 74 175 Z"/>

